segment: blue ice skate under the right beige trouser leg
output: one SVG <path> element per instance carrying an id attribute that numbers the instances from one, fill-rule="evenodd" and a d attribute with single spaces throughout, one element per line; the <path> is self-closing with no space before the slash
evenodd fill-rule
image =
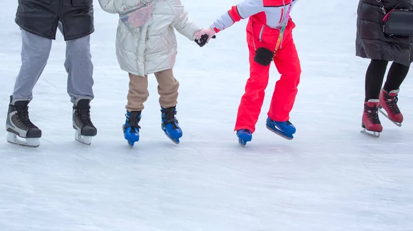
<path id="1" fill-rule="evenodd" d="M 176 107 L 161 108 L 162 112 L 162 124 L 161 128 L 168 136 L 168 138 L 178 145 L 179 138 L 182 137 L 182 130 L 178 125 L 178 120 L 175 118 Z"/>

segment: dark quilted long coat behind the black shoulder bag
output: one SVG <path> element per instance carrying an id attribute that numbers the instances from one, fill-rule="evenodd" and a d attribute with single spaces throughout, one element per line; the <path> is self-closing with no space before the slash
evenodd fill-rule
<path id="1" fill-rule="evenodd" d="M 381 0 L 386 12 L 406 0 Z M 413 0 L 407 0 L 413 1 Z M 399 5 L 401 8 L 412 8 Z M 398 8 L 399 8 L 398 6 Z M 383 11 L 376 0 L 359 0 L 357 8 L 356 55 L 372 60 L 394 61 L 408 66 L 412 62 L 412 38 L 395 38 L 383 34 Z"/>

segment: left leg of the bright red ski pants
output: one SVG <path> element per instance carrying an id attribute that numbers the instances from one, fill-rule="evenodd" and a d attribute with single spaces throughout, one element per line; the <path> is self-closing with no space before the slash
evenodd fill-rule
<path id="1" fill-rule="evenodd" d="M 255 132 L 255 124 L 260 116 L 261 107 L 264 102 L 265 88 L 268 85 L 270 66 L 262 66 L 254 61 L 255 49 L 248 44 L 250 77 L 245 86 L 245 93 L 241 98 L 238 108 L 235 131 L 247 129 Z"/>

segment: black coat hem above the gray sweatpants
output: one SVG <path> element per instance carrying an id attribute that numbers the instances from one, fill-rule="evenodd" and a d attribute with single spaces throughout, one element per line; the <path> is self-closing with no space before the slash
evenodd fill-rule
<path id="1" fill-rule="evenodd" d="M 56 39 L 60 20 L 65 40 L 72 40 L 94 32 L 93 13 L 93 0 L 19 0 L 15 21 L 28 32 Z"/>

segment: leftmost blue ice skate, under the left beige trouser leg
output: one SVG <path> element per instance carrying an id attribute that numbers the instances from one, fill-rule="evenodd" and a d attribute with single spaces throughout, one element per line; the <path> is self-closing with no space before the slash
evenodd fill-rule
<path id="1" fill-rule="evenodd" d="M 123 125 L 123 135 L 129 147 L 134 147 L 135 142 L 139 141 L 140 112 L 141 111 L 126 112 L 125 114 L 126 121 Z"/>

